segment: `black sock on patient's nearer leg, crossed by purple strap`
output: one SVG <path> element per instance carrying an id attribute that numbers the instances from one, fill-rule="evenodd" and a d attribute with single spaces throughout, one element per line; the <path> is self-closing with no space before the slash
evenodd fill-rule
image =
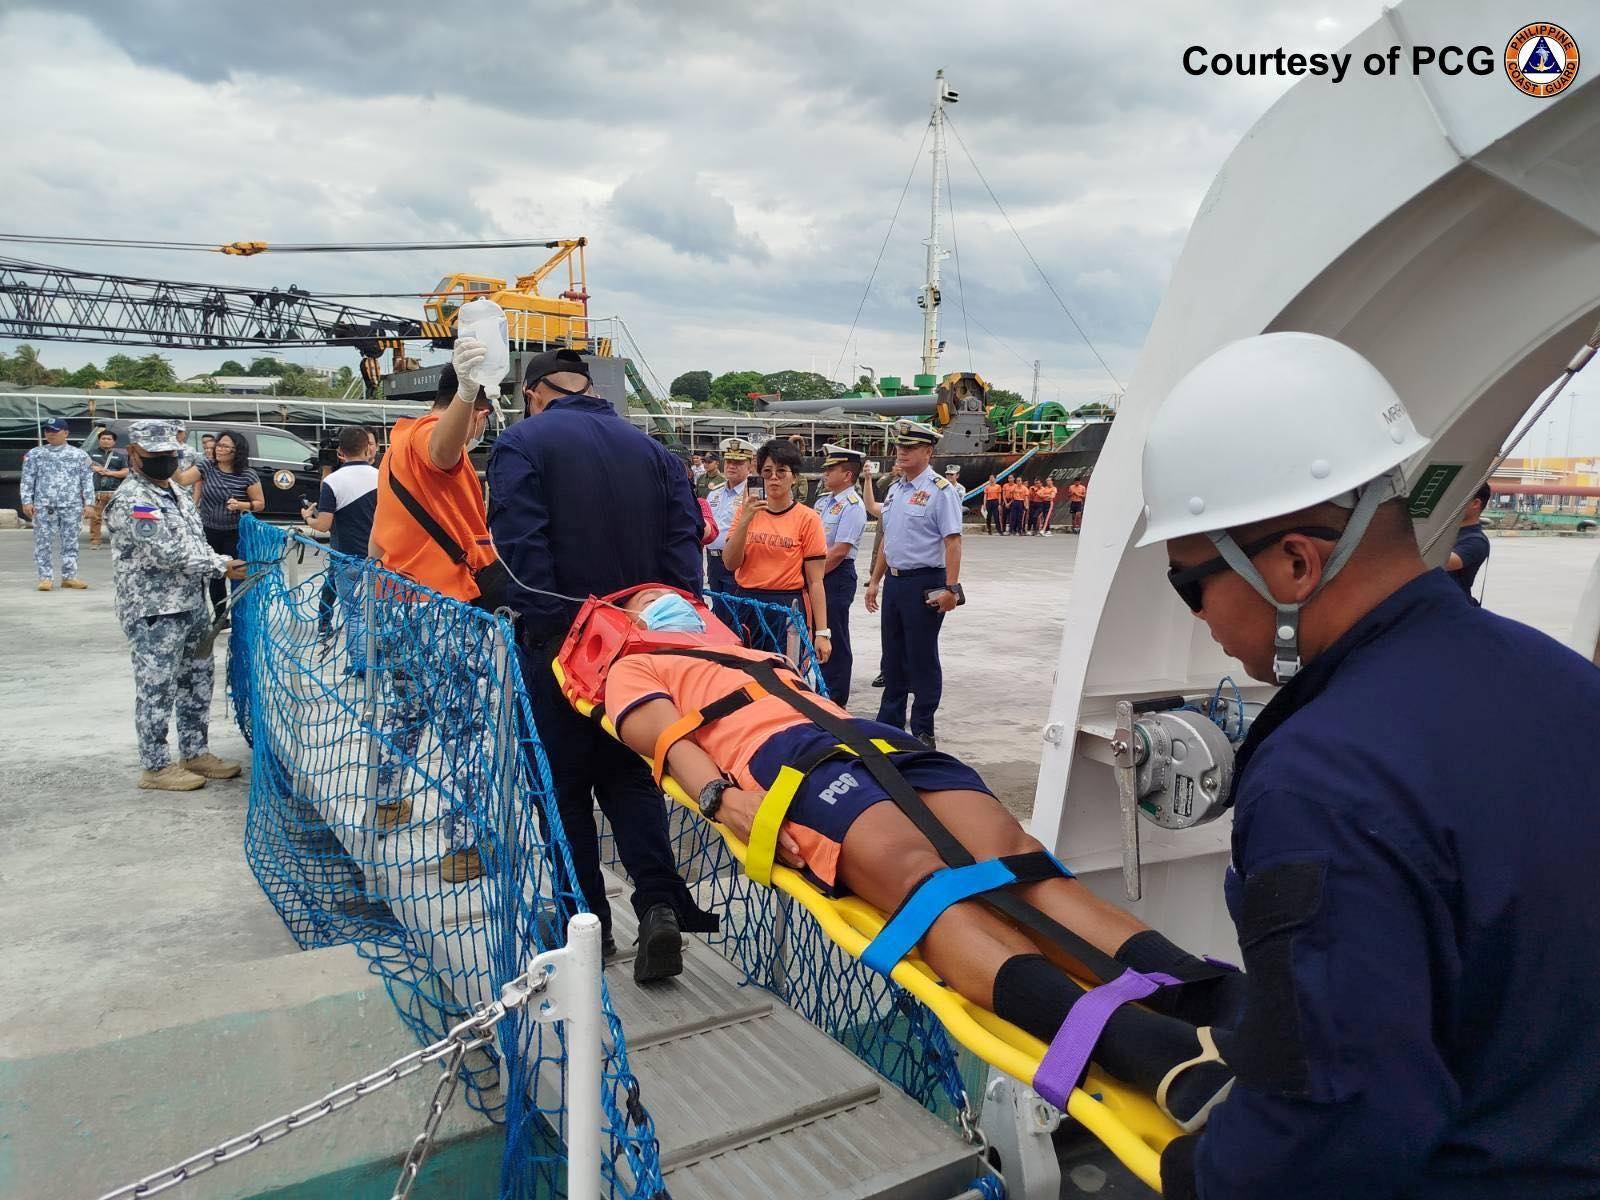
<path id="1" fill-rule="evenodd" d="M 995 974 L 995 1016 L 1026 1029 L 1046 1045 L 1056 1037 L 1072 1005 L 1083 995 L 1066 971 L 1042 954 L 1006 958 Z M 1166 1072 L 1200 1053 L 1194 1026 L 1138 1005 L 1123 1005 L 1094 1046 L 1094 1062 L 1107 1072 L 1150 1094 Z M 1182 1118 L 1227 1082 L 1227 1067 L 1186 1070 L 1170 1090 L 1168 1104 Z"/>

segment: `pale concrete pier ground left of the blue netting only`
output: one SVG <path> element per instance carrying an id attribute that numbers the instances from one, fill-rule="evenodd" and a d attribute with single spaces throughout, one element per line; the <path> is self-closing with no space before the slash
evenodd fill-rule
<path id="1" fill-rule="evenodd" d="M 110 552 L 86 592 L 35 590 L 32 536 L 0 531 L 0 1197 L 94 1197 L 416 1048 L 352 946 L 301 952 L 245 862 L 245 776 L 141 792 Z M 176 738 L 176 734 L 173 734 Z M 174 742 L 176 746 L 176 742 Z M 387 1197 L 432 1075 L 206 1173 L 184 1197 Z M 493 1195 L 499 1133 L 464 1104 L 437 1190 Z"/>

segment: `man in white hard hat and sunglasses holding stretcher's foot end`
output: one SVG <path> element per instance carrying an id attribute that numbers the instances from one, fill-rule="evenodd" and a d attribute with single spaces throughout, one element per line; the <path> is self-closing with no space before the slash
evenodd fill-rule
<path id="1" fill-rule="evenodd" d="M 1304 333 L 1222 347 L 1150 422 L 1139 546 L 1283 685 L 1234 781 L 1237 1083 L 1166 1149 L 1170 1198 L 1600 1194 L 1600 670 L 1426 568 L 1426 450 Z M 1490 694 L 1560 704 L 1536 744 L 1464 744 Z"/>

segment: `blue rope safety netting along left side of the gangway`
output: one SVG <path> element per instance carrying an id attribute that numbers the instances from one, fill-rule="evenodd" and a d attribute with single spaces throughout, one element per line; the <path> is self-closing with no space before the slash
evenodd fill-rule
<path id="1" fill-rule="evenodd" d="M 259 576 L 229 645 L 251 741 L 246 858 L 302 947 L 354 944 L 434 1042 L 563 944 L 584 907 L 563 885 L 576 874 L 512 629 L 256 520 L 240 525 L 240 557 Z M 474 858 L 482 874 L 469 877 Z M 610 995 L 605 1021 L 606 1194 L 658 1197 L 654 1128 Z M 558 1027 L 514 1013 L 498 1034 L 464 1083 L 506 1125 L 501 1194 L 558 1195 Z"/>

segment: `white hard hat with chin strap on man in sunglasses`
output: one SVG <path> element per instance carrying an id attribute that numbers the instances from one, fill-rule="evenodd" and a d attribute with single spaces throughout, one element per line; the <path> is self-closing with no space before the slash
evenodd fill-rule
<path id="1" fill-rule="evenodd" d="M 1426 446 L 1389 381 L 1349 346 L 1315 333 L 1230 342 L 1150 421 L 1138 546 L 1342 498 Z"/>

